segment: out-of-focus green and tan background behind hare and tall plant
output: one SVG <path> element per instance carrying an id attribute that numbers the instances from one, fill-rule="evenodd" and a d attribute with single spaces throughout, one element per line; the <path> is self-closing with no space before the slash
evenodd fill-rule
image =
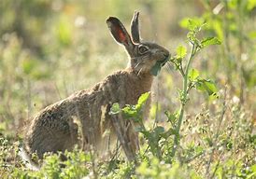
<path id="1" fill-rule="evenodd" d="M 116 16 L 130 31 L 135 10 L 140 11 L 142 38 L 173 55 L 186 40 L 183 19 L 208 22 L 206 34 L 218 36 L 222 45 L 204 50 L 193 67 L 255 110 L 254 7 L 252 0 L 1 0 L 0 135 L 21 133 L 24 122 L 44 106 L 124 68 L 128 58 L 106 20 Z M 151 117 L 161 119 L 164 110 L 177 109 L 180 86 L 178 73 L 166 66 L 153 85 Z M 191 115 L 210 103 L 195 91 L 190 98 Z"/>

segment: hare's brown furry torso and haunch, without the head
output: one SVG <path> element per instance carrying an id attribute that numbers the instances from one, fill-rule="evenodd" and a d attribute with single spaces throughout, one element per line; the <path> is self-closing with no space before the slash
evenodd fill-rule
<path id="1" fill-rule="evenodd" d="M 61 102 L 51 104 L 34 118 L 27 133 L 26 150 L 36 152 L 42 158 L 45 152 L 72 148 L 78 143 L 75 117 L 82 123 L 85 142 L 100 146 L 103 132 L 112 126 L 108 115 L 111 104 L 135 104 L 142 93 L 150 90 L 151 82 L 152 76 L 137 76 L 133 70 L 126 69 L 107 76 L 92 90 L 80 90 Z M 107 110 L 102 111 L 103 107 Z M 101 120 L 104 120 L 103 124 Z"/>

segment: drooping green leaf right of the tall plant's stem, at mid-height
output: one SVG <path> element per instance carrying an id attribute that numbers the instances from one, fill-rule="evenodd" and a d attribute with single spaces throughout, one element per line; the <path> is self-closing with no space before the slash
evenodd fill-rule
<path id="1" fill-rule="evenodd" d="M 196 89 L 206 91 L 208 95 L 214 95 L 218 91 L 215 83 L 211 80 L 199 79 L 196 83 Z"/>

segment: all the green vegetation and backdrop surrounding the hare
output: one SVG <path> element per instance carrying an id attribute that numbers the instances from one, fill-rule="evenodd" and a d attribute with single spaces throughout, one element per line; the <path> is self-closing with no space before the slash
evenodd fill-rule
<path id="1" fill-rule="evenodd" d="M 255 178 L 255 7 L 255 0 L 1 1 L 0 177 Z M 105 20 L 118 16 L 128 27 L 135 9 L 145 39 L 173 54 L 162 73 L 159 64 L 153 69 L 154 92 L 111 108 L 139 124 L 136 163 L 118 147 L 110 159 L 77 147 L 66 160 L 46 155 L 39 171 L 29 170 L 19 156 L 23 125 L 125 66 Z"/>

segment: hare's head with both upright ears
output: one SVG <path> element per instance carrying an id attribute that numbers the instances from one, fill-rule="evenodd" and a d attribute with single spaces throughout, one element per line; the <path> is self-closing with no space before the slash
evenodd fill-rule
<path id="1" fill-rule="evenodd" d="M 156 76 L 169 58 L 169 51 L 158 44 L 141 42 L 138 27 L 138 12 L 135 12 L 131 22 L 131 36 L 119 19 L 109 17 L 108 28 L 113 38 L 125 47 L 129 56 L 130 64 L 135 73 Z"/>

